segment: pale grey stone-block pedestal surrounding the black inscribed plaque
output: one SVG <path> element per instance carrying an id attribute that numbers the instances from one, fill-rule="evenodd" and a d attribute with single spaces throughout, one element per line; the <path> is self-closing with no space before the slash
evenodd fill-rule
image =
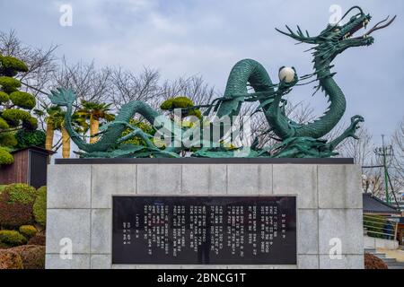
<path id="1" fill-rule="evenodd" d="M 48 166 L 46 267 L 364 268 L 361 170 L 349 162 L 57 161 Z M 297 196 L 297 265 L 112 265 L 114 195 Z M 72 240 L 71 259 L 60 257 L 64 238 Z M 338 242 L 342 254 L 330 257 Z"/>

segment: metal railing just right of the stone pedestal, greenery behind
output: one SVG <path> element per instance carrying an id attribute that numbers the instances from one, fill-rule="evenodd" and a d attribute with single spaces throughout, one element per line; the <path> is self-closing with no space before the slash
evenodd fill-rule
<path id="1" fill-rule="evenodd" d="M 364 214 L 364 230 L 369 237 L 395 240 L 397 225 L 383 216 Z"/>

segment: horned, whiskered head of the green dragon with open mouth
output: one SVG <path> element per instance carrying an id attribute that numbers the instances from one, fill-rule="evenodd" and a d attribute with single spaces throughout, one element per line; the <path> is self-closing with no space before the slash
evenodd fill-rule
<path id="1" fill-rule="evenodd" d="M 349 16 L 349 21 L 340 25 L 340 23 Z M 297 26 L 297 32 L 294 32 L 288 26 L 286 26 L 286 29 L 289 30 L 289 32 L 278 29 L 277 31 L 299 42 L 316 45 L 316 47 L 312 48 L 314 50 L 313 55 L 315 62 L 330 63 L 338 54 L 342 53 L 347 48 L 372 45 L 374 39 L 370 35 L 373 31 L 389 26 L 396 19 L 396 16 L 390 21 L 389 17 L 387 17 L 383 21 L 375 24 L 372 29 L 366 31 L 363 36 L 354 37 L 354 34 L 358 30 L 362 28 L 366 29 L 371 19 L 372 16 L 370 14 L 364 13 L 359 6 L 354 6 L 343 15 L 337 24 L 329 24 L 317 37 L 311 37 L 307 30 L 303 33 L 299 26 Z"/>

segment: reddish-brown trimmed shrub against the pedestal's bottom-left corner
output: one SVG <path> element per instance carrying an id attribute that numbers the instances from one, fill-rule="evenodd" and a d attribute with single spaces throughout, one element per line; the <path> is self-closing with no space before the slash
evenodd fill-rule
<path id="1" fill-rule="evenodd" d="M 45 269 L 45 247 L 38 245 L 23 245 L 8 249 L 22 258 L 24 269 Z"/>

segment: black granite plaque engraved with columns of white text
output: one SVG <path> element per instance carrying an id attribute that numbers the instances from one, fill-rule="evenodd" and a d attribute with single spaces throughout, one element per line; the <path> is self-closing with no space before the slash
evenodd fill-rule
<path id="1" fill-rule="evenodd" d="M 295 196 L 114 196 L 113 264 L 295 265 Z"/>

